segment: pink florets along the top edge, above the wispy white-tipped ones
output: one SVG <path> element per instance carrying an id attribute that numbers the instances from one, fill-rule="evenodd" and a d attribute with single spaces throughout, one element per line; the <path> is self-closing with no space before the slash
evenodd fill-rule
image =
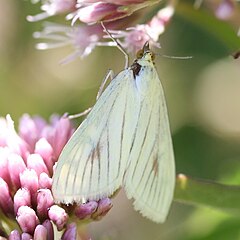
<path id="1" fill-rule="evenodd" d="M 32 1 L 35 3 L 36 1 Z M 37 1 L 39 2 L 39 1 Z M 124 1 L 84 1 L 84 0 L 42 0 L 41 10 L 35 16 L 27 16 L 30 22 L 47 17 L 68 13 L 67 19 L 79 19 L 82 22 L 113 21 L 131 15 L 135 11 L 151 6 L 160 0 L 124 0 Z"/>

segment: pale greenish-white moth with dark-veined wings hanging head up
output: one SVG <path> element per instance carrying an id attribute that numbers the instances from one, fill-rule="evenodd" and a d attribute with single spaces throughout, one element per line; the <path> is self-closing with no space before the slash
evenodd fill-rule
<path id="1" fill-rule="evenodd" d="M 121 71 L 64 147 L 53 176 L 56 202 L 111 196 L 121 186 L 143 216 L 164 222 L 175 164 L 164 92 L 148 43 Z"/>

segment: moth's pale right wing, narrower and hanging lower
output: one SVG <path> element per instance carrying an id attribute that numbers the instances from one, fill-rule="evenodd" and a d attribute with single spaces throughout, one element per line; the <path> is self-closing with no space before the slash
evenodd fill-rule
<path id="1" fill-rule="evenodd" d="M 136 210 L 164 222 L 173 199 L 175 164 L 164 92 L 156 78 L 142 102 L 123 186 Z"/>

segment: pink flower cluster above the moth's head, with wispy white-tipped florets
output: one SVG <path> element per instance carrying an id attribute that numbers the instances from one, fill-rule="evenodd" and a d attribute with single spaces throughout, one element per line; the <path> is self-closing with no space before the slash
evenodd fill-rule
<path id="1" fill-rule="evenodd" d="M 66 2 L 71 2 L 71 4 L 66 4 Z M 63 60 L 66 63 L 74 60 L 76 57 L 82 58 L 87 56 L 96 46 L 114 45 L 111 42 L 106 42 L 103 36 L 103 29 L 99 25 L 100 21 L 105 23 L 109 31 L 113 30 L 113 36 L 120 41 L 128 52 L 136 53 L 146 41 L 149 41 L 150 45 L 159 47 L 159 36 L 165 31 L 166 25 L 174 14 L 174 6 L 172 4 L 160 9 L 149 22 L 132 26 L 132 19 L 139 18 L 139 15 L 135 14 L 138 10 L 147 9 L 147 7 L 158 2 L 160 1 L 49 0 L 44 1 L 42 6 L 43 13 L 36 16 L 28 16 L 28 20 L 37 21 L 43 17 L 67 13 L 66 19 L 72 20 L 72 25 L 74 24 L 74 26 L 48 23 L 45 24 L 42 32 L 34 34 L 35 38 L 45 39 L 45 42 L 37 44 L 38 49 L 72 45 L 75 50 L 73 54 Z M 85 24 L 79 24 L 80 22 Z M 116 29 L 127 30 L 118 31 Z"/>

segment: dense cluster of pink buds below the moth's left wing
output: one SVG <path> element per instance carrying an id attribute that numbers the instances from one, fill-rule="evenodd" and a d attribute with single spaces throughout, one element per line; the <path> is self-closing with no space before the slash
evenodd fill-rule
<path id="1" fill-rule="evenodd" d="M 54 165 L 73 131 L 66 117 L 52 116 L 48 124 L 24 115 L 19 133 L 9 115 L 0 118 L 0 239 L 53 240 L 53 224 L 63 230 L 61 239 L 78 239 L 74 220 L 98 219 L 110 210 L 109 198 L 82 205 L 54 203 Z"/>

